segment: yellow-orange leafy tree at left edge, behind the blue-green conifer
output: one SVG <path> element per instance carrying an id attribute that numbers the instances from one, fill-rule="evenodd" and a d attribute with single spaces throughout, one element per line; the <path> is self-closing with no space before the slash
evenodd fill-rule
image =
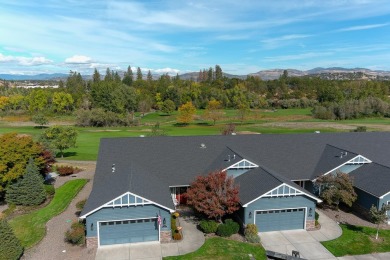
<path id="1" fill-rule="evenodd" d="M 9 183 L 19 179 L 30 158 L 42 172 L 53 162 L 50 152 L 31 136 L 7 133 L 0 136 L 0 197 Z"/>

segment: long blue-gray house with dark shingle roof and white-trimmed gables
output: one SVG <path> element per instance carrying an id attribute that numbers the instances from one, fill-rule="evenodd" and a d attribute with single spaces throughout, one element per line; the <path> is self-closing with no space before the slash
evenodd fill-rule
<path id="1" fill-rule="evenodd" d="M 390 201 L 390 133 L 107 138 L 81 213 L 88 246 L 168 241 L 170 213 L 197 175 L 224 170 L 240 188 L 241 224 L 311 229 L 315 180 L 351 174 L 357 203 Z"/>

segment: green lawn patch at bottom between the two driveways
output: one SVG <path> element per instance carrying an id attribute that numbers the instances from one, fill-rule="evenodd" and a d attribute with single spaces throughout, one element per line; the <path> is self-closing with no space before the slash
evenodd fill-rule
<path id="1" fill-rule="evenodd" d="M 206 239 L 204 245 L 193 253 L 164 257 L 164 259 L 250 259 L 249 254 L 252 254 L 257 260 L 267 259 L 265 250 L 261 245 L 214 237 Z"/>

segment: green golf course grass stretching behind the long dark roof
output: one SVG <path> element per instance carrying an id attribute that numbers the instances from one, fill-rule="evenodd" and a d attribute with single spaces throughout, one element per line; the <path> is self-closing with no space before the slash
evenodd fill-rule
<path id="1" fill-rule="evenodd" d="M 390 131 L 390 119 L 367 118 L 345 121 L 326 121 L 314 119 L 310 109 L 279 109 L 279 110 L 254 110 L 244 120 L 237 118 L 236 110 L 225 110 L 224 116 L 216 122 L 202 119 L 203 111 L 197 111 L 195 121 L 186 126 L 176 124 L 176 114 L 165 115 L 162 113 L 149 113 L 140 117 L 140 124 L 132 127 L 77 127 L 79 132 L 77 147 L 65 151 L 66 159 L 70 160 L 96 160 L 99 142 L 101 138 L 108 137 L 132 137 L 147 136 L 152 127 L 159 123 L 159 127 L 166 135 L 218 135 L 228 123 L 236 125 L 239 134 L 284 134 L 284 133 L 313 133 L 320 132 L 348 132 L 357 126 L 366 126 L 368 131 Z M 70 116 L 49 119 L 51 124 L 73 124 Z M 0 134 L 17 132 L 29 134 L 38 139 L 44 129 L 34 126 L 29 117 L 3 117 L 0 120 Z"/>

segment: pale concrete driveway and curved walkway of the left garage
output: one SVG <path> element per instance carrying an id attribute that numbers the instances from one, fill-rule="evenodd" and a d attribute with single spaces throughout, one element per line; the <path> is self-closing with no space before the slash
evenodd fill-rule
<path id="1" fill-rule="evenodd" d="M 157 260 L 165 256 L 184 255 L 198 250 L 204 243 L 204 235 L 196 228 L 193 218 L 179 218 L 183 227 L 183 239 L 178 242 L 160 244 L 158 242 L 125 244 L 100 247 L 96 260 L 121 259 Z"/>

